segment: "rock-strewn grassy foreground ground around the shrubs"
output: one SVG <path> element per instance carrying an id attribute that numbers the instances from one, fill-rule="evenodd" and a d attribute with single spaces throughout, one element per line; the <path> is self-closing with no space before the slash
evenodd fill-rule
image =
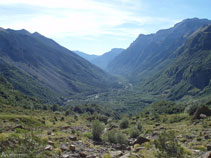
<path id="1" fill-rule="evenodd" d="M 8 112 L 8 110 L 10 112 Z M 15 114 L 14 114 L 15 113 Z M 154 142 L 164 131 L 175 131 L 176 139 L 190 158 L 211 157 L 211 117 L 193 120 L 188 114 L 137 115 L 127 117 L 129 125 L 121 129 L 121 120 L 108 119 L 102 141 L 92 140 L 90 115 L 65 115 L 42 110 L 0 110 L 0 152 L 26 154 L 26 157 L 52 158 L 154 158 Z M 141 122 L 140 136 L 130 138 L 130 130 Z M 104 137 L 112 129 L 127 135 L 127 144 L 113 144 Z M 30 137 L 27 137 L 30 135 Z"/>

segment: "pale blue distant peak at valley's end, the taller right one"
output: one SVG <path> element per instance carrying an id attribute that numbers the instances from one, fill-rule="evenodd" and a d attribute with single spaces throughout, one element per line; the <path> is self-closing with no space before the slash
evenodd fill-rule
<path id="1" fill-rule="evenodd" d="M 104 53 L 101 56 L 96 57 L 91 60 L 91 62 L 103 70 L 107 70 L 108 64 L 120 53 L 122 53 L 124 49 L 122 48 L 113 48 L 111 51 Z"/>

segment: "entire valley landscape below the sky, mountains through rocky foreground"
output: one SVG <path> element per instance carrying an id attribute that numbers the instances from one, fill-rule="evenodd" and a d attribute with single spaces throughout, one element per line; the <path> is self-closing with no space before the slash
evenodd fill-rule
<path id="1" fill-rule="evenodd" d="M 211 21 L 103 55 L 0 29 L 0 157 L 210 158 Z"/>

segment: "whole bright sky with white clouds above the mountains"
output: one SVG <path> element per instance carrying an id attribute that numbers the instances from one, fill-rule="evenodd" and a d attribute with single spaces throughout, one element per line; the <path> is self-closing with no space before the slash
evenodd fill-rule
<path id="1" fill-rule="evenodd" d="M 211 0 L 0 0 L 0 27 L 100 55 L 187 18 L 211 20 Z"/>

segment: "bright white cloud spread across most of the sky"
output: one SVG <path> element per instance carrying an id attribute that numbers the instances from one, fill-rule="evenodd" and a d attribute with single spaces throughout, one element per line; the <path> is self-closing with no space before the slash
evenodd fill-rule
<path id="1" fill-rule="evenodd" d="M 150 33 L 145 25 L 174 23 L 137 14 L 144 10 L 142 0 L 0 0 L 0 8 L 1 5 L 11 6 L 13 12 L 17 9 L 13 9 L 14 6 L 38 8 L 33 14 L 1 15 L 1 27 L 24 28 L 54 39 L 68 36 L 89 39 L 105 35 L 135 39 L 140 33 Z M 123 27 L 125 23 L 137 27 Z"/>

